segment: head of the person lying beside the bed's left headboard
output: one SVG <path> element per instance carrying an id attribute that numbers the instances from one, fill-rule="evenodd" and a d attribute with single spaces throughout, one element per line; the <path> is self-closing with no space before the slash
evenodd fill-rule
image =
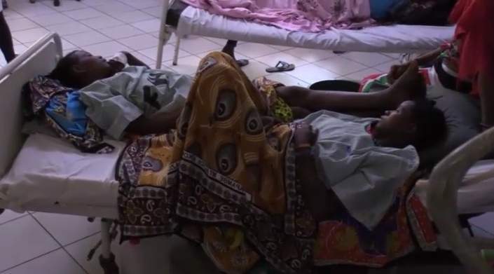
<path id="1" fill-rule="evenodd" d="M 84 50 L 74 50 L 58 62 L 48 77 L 57 79 L 70 88 L 83 88 L 111 76 L 113 72 L 103 57 L 91 55 Z"/>

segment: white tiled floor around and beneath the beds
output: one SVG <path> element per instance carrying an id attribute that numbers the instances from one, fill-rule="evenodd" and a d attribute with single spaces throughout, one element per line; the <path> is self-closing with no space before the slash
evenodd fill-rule
<path id="1" fill-rule="evenodd" d="M 36 4 L 29 4 L 28 0 L 8 0 L 10 8 L 4 14 L 11 26 L 18 53 L 53 30 L 62 34 L 65 52 L 82 48 L 107 57 L 118 50 L 128 50 L 146 64 L 154 66 L 160 3 L 161 0 L 62 0 L 62 6 L 55 8 L 48 0 L 38 0 Z M 184 39 L 178 66 L 172 66 L 170 61 L 174 43 L 175 39 L 172 39 L 165 47 L 163 69 L 193 74 L 200 58 L 210 50 L 220 50 L 225 40 L 198 36 Z M 387 71 L 398 62 L 399 57 L 381 53 L 335 55 L 329 50 L 242 42 L 236 53 L 239 58 L 250 59 L 251 64 L 245 67 L 249 77 L 267 75 L 287 85 L 302 86 L 330 78 L 359 80 L 369 74 Z M 277 74 L 266 73 L 265 69 L 275 66 L 279 60 L 295 64 L 296 69 Z M 0 55 L 1 64 L 5 61 Z M 494 237 L 493 220 L 493 214 L 472 219 L 475 233 Z M 89 223 L 83 217 L 41 212 L 17 214 L 7 210 L 0 215 L 0 273 L 100 274 L 102 270 L 97 260 L 85 260 L 98 236 L 99 225 Z M 147 254 L 144 256 L 142 252 L 156 250 L 159 240 L 143 242 L 137 247 L 115 245 L 121 268 L 127 267 L 121 273 L 165 273 L 154 272 L 165 269 L 160 258 L 151 260 L 160 264 L 154 269 L 144 272 L 134 270 L 139 263 L 132 261 L 131 255 L 146 257 Z"/>

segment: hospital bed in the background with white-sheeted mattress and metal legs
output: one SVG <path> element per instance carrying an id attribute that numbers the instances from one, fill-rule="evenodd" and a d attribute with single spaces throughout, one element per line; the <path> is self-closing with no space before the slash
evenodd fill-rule
<path id="1" fill-rule="evenodd" d="M 293 32 L 247 20 L 213 15 L 180 0 L 164 0 L 156 67 L 163 60 L 163 46 L 177 36 L 173 64 L 177 64 L 180 39 L 198 35 L 219 39 L 265 43 L 321 50 L 413 53 L 434 50 L 453 38 L 454 27 L 388 25 L 364 29 L 331 29 L 325 32 Z"/>

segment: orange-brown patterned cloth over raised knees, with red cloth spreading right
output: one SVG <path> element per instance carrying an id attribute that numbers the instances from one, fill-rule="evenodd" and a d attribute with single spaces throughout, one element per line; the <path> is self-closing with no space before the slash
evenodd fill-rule
<path id="1" fill-rule="evenodd" d="M 409 187 L 374 231 L 347 212 L 317 226 L 299 192 L 290 125 L 265 128 L 263 102 L 231 57 L 207 55 L 177 131 L 137 139 L 123 153 L 123 240 L 175 233 L 198 242 L 225 273 L 247 273 L 260 260 L 282 273 L 383 266 L 415 249 L 414 240 L 434 247 Z"/>

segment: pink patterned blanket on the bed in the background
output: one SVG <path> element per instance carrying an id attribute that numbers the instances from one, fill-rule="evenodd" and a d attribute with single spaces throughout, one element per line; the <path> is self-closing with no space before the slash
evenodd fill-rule
<path id="1" fill-rule="evenodd" d="M 282 29 L 321 32 L 373 23 L 369 0 L 181 0 L 210 13 L 253 20 Z"/>

